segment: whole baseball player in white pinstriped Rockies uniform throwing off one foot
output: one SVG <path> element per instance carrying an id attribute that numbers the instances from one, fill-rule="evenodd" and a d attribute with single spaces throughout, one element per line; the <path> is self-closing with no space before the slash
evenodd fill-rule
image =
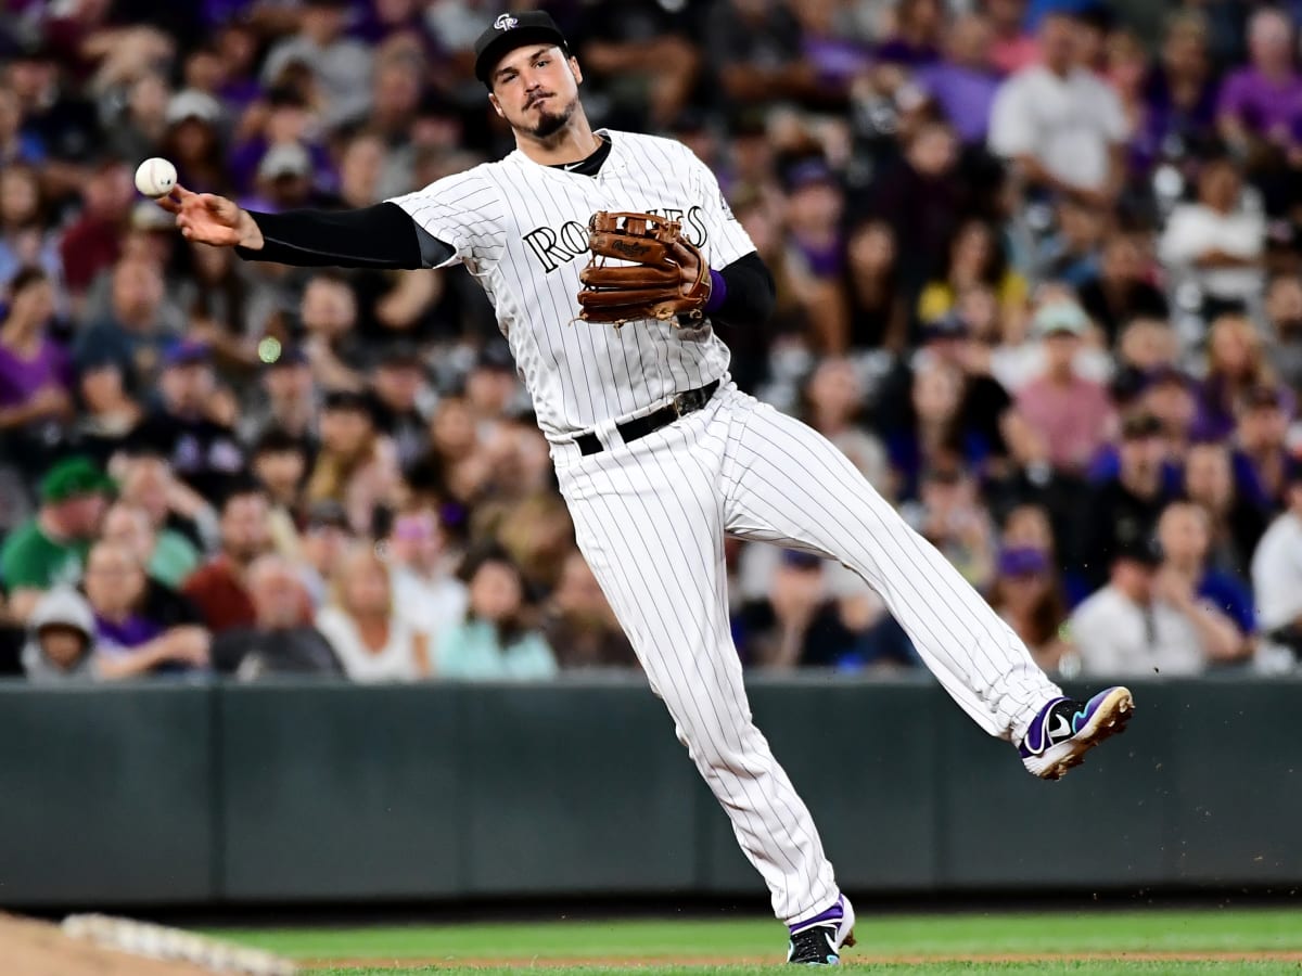
<path id="1" fill-rule="evenodd" d="M 185 237 L 246 259 L 470 271 L 533 397 L 579 549 L 768 884 L 788 960 L 836 963 L 854 914 L 751 721 L 725 534 L 853 569 L 960 707 L 1016 743 L 1035 776 L 1056 779 L 1120 731 L 1131 695 L 1065 698 L 832 444 L 736 388 L 711 321 L 762 321 L 773 282 L 690 150 L 592 131 L 582 70 L 546 13 L 497 17 L 475 44 L 475 74 L 516 137 L 496 163 L 344 212 L 250 213 L 184 187 L 160 202 Z"/>

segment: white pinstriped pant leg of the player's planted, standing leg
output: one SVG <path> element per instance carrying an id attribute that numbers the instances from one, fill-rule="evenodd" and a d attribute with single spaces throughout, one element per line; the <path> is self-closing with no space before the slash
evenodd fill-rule
<path id="1" fill-rule="evenodd" d="M 840 890 L 812 817 L 751 721 L 728 616 L 719 492 L 723 432 L 707 410 L 628 446 L 557 461 L 579 549 L 678 739 L 732 820 L 786 923 Z"/>

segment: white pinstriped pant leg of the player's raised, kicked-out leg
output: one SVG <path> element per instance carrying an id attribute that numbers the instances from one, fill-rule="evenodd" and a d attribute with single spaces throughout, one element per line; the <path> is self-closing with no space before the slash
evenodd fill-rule
<path id="1" fill-rule="evenodd" d="M 849 566 L 978 725 L 1004 739 L 1025 735 L 1061 691 L 1013 629 L 825 437 L 745 394 L 727 396 L 727 531 Z"/>

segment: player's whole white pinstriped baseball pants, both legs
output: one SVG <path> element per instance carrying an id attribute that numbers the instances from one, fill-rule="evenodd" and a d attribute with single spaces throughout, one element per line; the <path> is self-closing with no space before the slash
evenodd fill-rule
<path id="1" fill-rule="evenodd" d="M 793 923 L 838 889 L 812 817 L 751 721 L 724 535 L 840 560 L 987 733 L 1017 739 L 1059 688 L 1012 629 L 816 431 L 723 384 L 710 403 L 582 457 L 553 445 L 582 550 L 737 841 Z M 612 446 L 611 439 L 615 444 Z"/>

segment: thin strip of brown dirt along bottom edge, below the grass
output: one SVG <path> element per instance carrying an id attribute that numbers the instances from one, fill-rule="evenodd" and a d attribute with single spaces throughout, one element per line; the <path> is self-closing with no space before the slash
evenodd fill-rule
<path id="1" fill-rule="evenodd" d="M 556 956 L 556 958 L 418 958 L 418 959 L 306 959 L 302 967 L 307 969 L 400 969 L 421 966 L 448 968 L 510 968 L 527 966 L 531 969 L 560 969 L 569 967 L 647 967 L 647 966 L 768 966 L 780 962 L 773 956 L 706 956 L 706 955 L 656 955 L 656 956 Z M 1293 963 L 1302 964 L 1302 951 L 1288 953 L 974 953 L 971 955 L 871 955 L 854 951 L 844 956 L 850 966 L 870 966 L 872 963 L 892 966 L 936 966 L 936 964 L 982 964 L 982 963 Z"/>

